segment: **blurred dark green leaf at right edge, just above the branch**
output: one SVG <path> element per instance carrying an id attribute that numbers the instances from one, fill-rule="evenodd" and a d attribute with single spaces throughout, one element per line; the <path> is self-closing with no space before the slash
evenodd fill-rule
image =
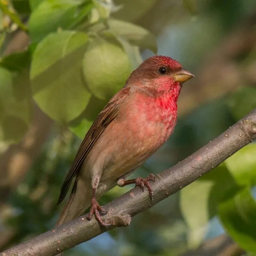
<path id="1" fill-rule="evenodd" d="M 229 97 L 227 105 L 236 120 L 256 108 L 256 88 L 242 87 Z"/>

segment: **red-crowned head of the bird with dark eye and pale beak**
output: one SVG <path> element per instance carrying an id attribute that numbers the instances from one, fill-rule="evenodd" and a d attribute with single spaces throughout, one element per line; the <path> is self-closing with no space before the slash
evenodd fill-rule
<path id="1" fill-rule="evenodd" d="M 182 65 L 167 56 L 152 56 L 146 59 L 131 73 L 126 85 L 142 86 L 150 90 L 168 91 L 175 85 L 194 77 L 192 73 L 183 69 Z"/>

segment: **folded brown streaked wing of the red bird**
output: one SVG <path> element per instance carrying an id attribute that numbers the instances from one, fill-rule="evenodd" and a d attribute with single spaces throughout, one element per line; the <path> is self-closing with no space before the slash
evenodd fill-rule
<path id="1" fill-rule="evenodd" d="M 78 149 L 72 166 L 69 172 L 67 173 L 67 176 L 61 187 L 61 193 L 59 195 L 59 200 L 57 204 L 61 203 L 62 200 L 65 198 L 74 175 L 77 174 L 83 160 L 85 159 L 86 155 L 93 147 L 94 143 L 97 141 L 99 136 L 117 116 L 120 104 L 129 95 L 129 91 L 130 87 L 123 87 L 117 94 L 115 94 L 110 99 L 109 103 L 107 103 L 104 109 L 98 114 L 97 118 L 93 122 L 93 125 L 90 127 L 88 133 L 85 135 L 85 138 L 83 139 Z"/>

